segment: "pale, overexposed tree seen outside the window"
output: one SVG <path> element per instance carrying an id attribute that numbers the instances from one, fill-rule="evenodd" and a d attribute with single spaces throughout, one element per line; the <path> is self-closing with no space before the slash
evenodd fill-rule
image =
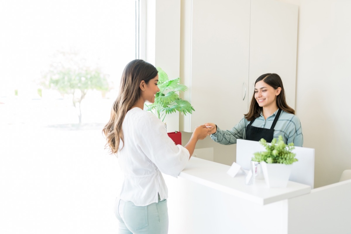
<path id="1" fill-rule="evenodd" d="M 109 88 L 107 75 L 97 64 L 88 64 L 78 51 L 58 51 L 42 78 L 44 87 L 56 89 L 61 94 L 71 94 L 79 124 L 82 119 L 80 104 L 87 92 L 106 92 Z"/>

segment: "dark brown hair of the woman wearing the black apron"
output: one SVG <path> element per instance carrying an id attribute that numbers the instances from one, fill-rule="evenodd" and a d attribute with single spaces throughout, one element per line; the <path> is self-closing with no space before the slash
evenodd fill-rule
<path id="1" fill-rule="evenodd" d="M 274 89 L 277 89 L 278 87 L 282 88 L 282 90 L 277 96 L 277 106 L 287 113 L 295 114 L 294 109 L 288 106 L 286 103 L 285 90 L 283 87 L 283 81 L 280 78 L 280 76 L 275 73 L 263 74 L 259 78 L 257 78 L 255 85 L 258 81 L 261 81 L 261 80 L 263 80 L 267 85 L 272 86 Z M 249 113 L 244 115 L 245 119 L 247 119 L 248 121 L 252 121 L 260 116 L 261 111 L 262 111 L 262 107 L 258 105 L 255 98 L 255 92 L 253 92 L 251 103 L 250 103 L 250 110 L 249 110 Z"/>

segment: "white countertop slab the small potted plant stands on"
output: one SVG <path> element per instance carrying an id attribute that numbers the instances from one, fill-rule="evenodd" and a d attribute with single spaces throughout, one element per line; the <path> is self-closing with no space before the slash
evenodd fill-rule
<path id="1" fill-rule="evenodd" d="M 238 174 L 232 178 L 227 174 L 229 168 L 228 165 L 191 157 L 179 177 L 260 205 L 311 192 L 310 186 L 292 181 L 288 182 L 286 188 L 269 188 L 265 180 L 254 180 L 252 185 L 245 185 L 245 175 Z"/>

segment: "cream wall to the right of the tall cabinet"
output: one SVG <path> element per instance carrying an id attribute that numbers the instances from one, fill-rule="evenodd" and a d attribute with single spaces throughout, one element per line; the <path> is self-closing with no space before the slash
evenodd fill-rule
<path id="1" fill-rule="evenodd" d="M 296 112 L 316 149 L 315 186 L 351 168 L 351 1 L 300 0 Z"/>

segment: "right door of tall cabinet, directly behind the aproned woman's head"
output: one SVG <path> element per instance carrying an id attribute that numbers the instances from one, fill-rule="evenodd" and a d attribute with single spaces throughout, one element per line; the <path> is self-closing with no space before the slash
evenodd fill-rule
<path id="1" fill-rule="evenodd" d="M 287 104 L 295 108 L 297 16 L 296 5 L 251 0 L 250 97 L 260 75 L 277 73 L 283 80 Z"/>

